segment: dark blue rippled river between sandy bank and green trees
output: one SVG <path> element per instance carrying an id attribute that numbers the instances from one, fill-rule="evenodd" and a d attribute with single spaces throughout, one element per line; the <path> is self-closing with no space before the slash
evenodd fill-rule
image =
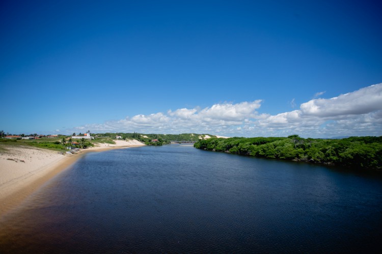
<path id="1" fill-rule="evenodd" d="M 88 153 L 0 221 L 0 252 L 378 252 L 382 172 L 192 146 Z"/>

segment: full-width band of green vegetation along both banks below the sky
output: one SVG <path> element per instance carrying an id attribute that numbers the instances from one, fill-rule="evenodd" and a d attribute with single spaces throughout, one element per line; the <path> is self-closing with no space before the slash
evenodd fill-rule
<path id="1" fill-rule="evenodd" d="M 90 131 L 88 131 L 90 133 Z M 5 136 L 4 132 L 0 132 Z M 8 134 L 8 133 L 7 133 Z M 74 134 L 74 133 L 73 133 Z M 66 151 L 68 146 L 87 148 L 94 143 L 115 144 L 116 136 L 123 140 L 136 139 L 146 145 L 160 146 L 171 141 L 197 141 L 199 149 L 230 152 L 241 155 L 277 158 L 282 160 L 306 161 L 341 165 L 348 167 L 382 169 L 382 136 L 350 137 L 345 139 L 312 139 L 298 135 L 284 137 L 257 138 L 212 138 L 206 134 L 140 134 L 140 133 L 101 133 L 91 134 L 94 140 L 72 140 L 70 136 L 59 135 L 54 138 L 41 137 L 36 140 L 5 139 L 0 137 L 0 152 L 7 146 L 35 146 L 59 151 Z M 21 136 L 21 135 L 20 135 Z M 32 135 L 30 135 L 32 136 Z M 33 136 L 37 136 L 33 135 Z"/>

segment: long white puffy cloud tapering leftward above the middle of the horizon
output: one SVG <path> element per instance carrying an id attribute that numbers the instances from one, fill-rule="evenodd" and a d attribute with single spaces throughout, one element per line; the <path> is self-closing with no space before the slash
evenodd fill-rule
<path id="1" fill-rule="evenodd" d="M 89 129 L 92 132 L 141 132 L 141 133 L 181 133 L 181 132 L 230 132 L 231 129 L 249 123 L 253 118 L 262 118 L 257 109 L 261 100 L 241 103 L 220 103 L 204 109 L 181 108 L 166 113 L 135 115 L 103 124 L 78 126 L 76 130 Z"/>

